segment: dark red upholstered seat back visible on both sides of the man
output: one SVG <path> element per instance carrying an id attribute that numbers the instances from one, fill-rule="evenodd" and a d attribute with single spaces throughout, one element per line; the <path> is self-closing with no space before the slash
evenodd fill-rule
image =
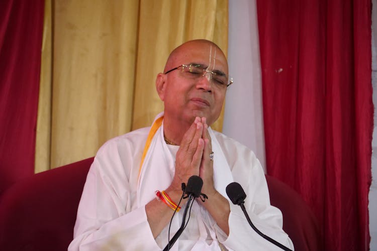
<path id="1" fill-rule="evenodd" d="M 0 198 L 1 250 L 67 250 L 76 211 L 93 158 L 20 181 Z M 301 197 L 266 176 L 271 204 L 284 215 L 295 250 L 320 250 L 318 225 Z"/>

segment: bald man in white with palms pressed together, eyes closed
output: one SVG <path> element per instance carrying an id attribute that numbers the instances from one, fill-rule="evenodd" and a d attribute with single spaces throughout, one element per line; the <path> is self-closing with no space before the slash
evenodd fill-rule
<path id="1" fill-rule="evenodd" d="M 276 248 L 251 229 L 239 206 L 229 203 L 225 187 L 233 181 L 245 189 L 245 207 L 256 227 L 293 247 L 281 229 L 280 211 L 269 204 L 255 155 L 209 128 L 220 115 L 228 84 L 228 63 L 216 44 L 193 40 L 172 51 L 156 78 L 164 112 L 150 128 L 110 140 L 99 150 L 69 250 L 164 248 L 181 224 L 183 210 L 169 224 L 182 196 L 181 183 L 192 175 L 203 179 L 208 199 L 196 199 L 171 250 Z"/>

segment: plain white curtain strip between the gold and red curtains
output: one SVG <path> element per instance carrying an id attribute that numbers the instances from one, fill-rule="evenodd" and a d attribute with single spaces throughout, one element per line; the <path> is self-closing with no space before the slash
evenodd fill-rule
<path id="1" fill-rule="evenodd" d="M 262 88 L 255 0 L 229 1 L 229 74 L 223 133 L 250 148 L 265 167 Z"/>

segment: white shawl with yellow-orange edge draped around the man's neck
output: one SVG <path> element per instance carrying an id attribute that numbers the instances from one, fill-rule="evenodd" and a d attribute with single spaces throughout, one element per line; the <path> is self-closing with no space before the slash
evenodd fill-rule
<path id="1" fill-rule="evenodd" d="M 161 116 L 163 116 L 163 112 L 158 114 L 153 122 L 153 125 L 156 126 L 156 121 L 160 121 Z M 157 125 L 158 126 L 158 125 Z M 151 130 L 153 130 L 153 126 Z M 227 198 L 225 188 L 226 186 L 233 182 L 233 177 L 227 160 L 224 156 L 223 151 L 217 141 L 213 131 L 209 128 L 209 134 L 211 136 L 212 141 L 212 151 L 214 152 L 214 185 L 216 190 L 222 194 L 225 198 Z M 169 151 L 163 134 L 163 123 L 157 129 L 155 134 L 149 134 L 148 138 L 152 137 L 150 141 L 150 145 L 147 144 L 145 146 L 144 151 L 146 152 L 145 158 L 142 160 L 141 163 L 141 170 L 139 174 L 138 180 L 138 189 L 137 189 L 137 203 L 138 207 L 144 206 L 149 201 L 151 201 L 155 197 L 156 190 L 164 190 L 166 189 L 174 176 L 174 162 L 175 156 L 172 156 L 171 152 Z M 210 200 L 207 201 L 210 203 Z M 195 204 L 194 204 L 195 205 Z M 193 205 L 193 212 L 198 211 L 200 209 L 194 208 Z M 183 209 L 183 208 L 182 208 Z M 171 236 L 178 230 L 181 222 L 178 221 L 178 217 L 174 217 L 171 223 L 170 229 L 170 238 Z M 200 222 L 199 222 L 200 224 Z M 205 224 L 205 223 L 202 223 Z M 209 227 L 206 224 L 207 228 Z M 199 228 L 203 229 L 204 225 L 200 225 Z M 212 228 L 212 227 L 211 227 Z M 213 229 L 209 229 L 212 238 L 216 238 L 215 231 Z M 201 239 L 205 241 L 207 238 L 207 231 L 203 229 L 201 231 Z M 166 238 L 167 241 L 167 238 Z M 179 241 L 179 239 L 178 239 Z M 177 242 L 178 242 L 177 241 Z M 200 242 L 200 241 L 199 241 Z M 167 243 L 167 242 L 166 242 Z M 200 244 L 202 246 L 203 243 Z M 175 243 L 171 250 L 177 250 L 178 244 Z M 199 248 L 199 244 L 195 247 Z M 208 247 L 206 248 L 208 250 Z M 218 248 L 216 248 L 218 250 Z"/>

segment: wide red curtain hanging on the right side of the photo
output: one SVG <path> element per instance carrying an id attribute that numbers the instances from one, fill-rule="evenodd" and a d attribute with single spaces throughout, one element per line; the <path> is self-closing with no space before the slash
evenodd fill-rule
<path id="1" fill-rule="evenodd" d="M 368 250 L 370 0 L 257 0 L 267 173 L 298 191 L 324 250 Z"/>

